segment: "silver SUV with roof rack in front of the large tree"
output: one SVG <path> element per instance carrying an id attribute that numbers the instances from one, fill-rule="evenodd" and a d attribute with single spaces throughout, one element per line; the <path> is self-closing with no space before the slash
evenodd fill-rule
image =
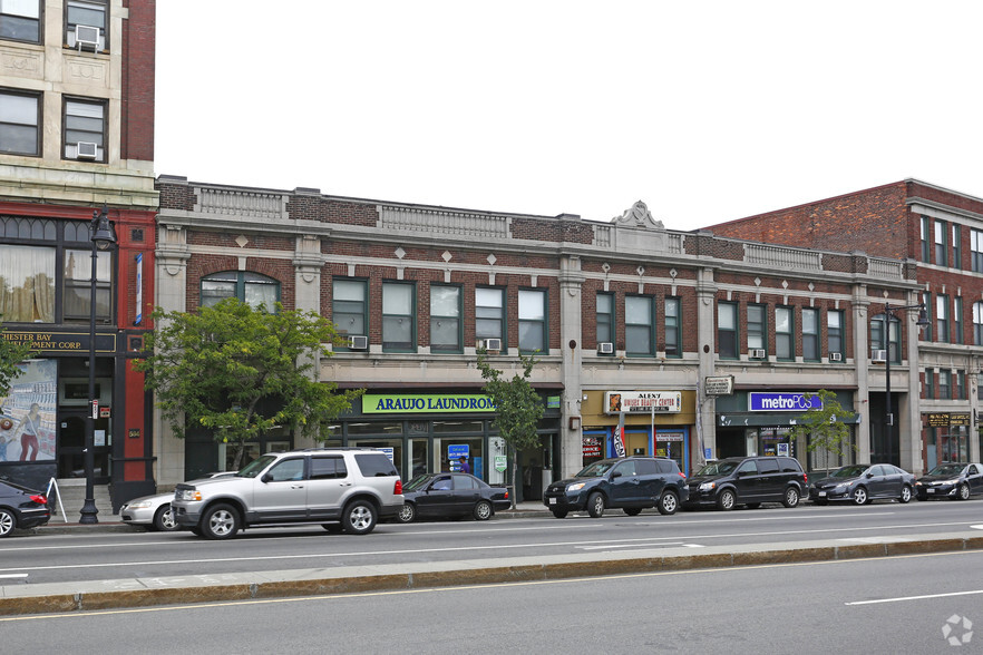
<path id="1" fill-rule="evenodd" d="M 323 448 L 269 452 L 232 476 L 177 485 L 172 507 L 195 535 L 230 539 L 247 527 L 306 522 L 367 535 L 402 502 L 402 481 L 385 452 Z"/>

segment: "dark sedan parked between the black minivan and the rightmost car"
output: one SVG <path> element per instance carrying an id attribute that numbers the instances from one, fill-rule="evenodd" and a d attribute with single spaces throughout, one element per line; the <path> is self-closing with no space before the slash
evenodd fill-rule
<path id="1" fill-rule="evenodd" d="M 907 502 L 915 488 L 915 476 L 894 465 L 849 465 L 817 480 L 809 489 L 816 505 L 847 501 L 866 505 L 876 499 Z"/>

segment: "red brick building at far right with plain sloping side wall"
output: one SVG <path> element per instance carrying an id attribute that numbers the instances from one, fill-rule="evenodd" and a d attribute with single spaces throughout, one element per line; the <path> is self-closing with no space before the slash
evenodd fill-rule
<path id="1" fill-rule="evenodd" d="M 749 216 L 707 228 L 717 236 L 806 248 L 894 257 L 914 270 L 916 294 L 872 303 L 873 320 L 886 302 L 924 303 L 928 325 L 911 339 L 884 330 L 869 356 L 886 351 L 890 395 L 899 426 L 888 430 L 886 368 L 875 369 L 872 439 L 889 452 L 913 440 L 921 463 L 979 461 L 979 377 L 983 356 L 983 199 L 917 179 Z M 897 312 L 894 312 L 898 315 Z M 905 344 L 897 348 L 899 343 Z M 901 436 L 901 437 L 899 437 Z M 887 451 L 882 446 L 882 451 Z"/>

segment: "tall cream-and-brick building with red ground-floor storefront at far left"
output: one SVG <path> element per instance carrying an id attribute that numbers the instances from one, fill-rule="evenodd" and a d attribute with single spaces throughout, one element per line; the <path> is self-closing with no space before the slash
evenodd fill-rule
<path id="1" fill-rule="evenodd" d="M 3 336 L 35 350 L 0 399 L 0 477 L 58 479 L 67 515 L 81 506 L 89 227 L 104 207 L 117 245 L 97 257 L 97 501 L 155 486 L 150 402 L 129 368 L 154 297 L 154 0 L 0 7 L 0 314 Z M 35 404 L 37 442 L 18 433 Z"/>

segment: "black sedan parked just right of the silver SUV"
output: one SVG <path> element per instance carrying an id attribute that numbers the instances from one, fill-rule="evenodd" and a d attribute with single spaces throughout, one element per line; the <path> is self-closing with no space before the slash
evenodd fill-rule
<path id="1" fill-rule="evenodd" d="M 426 473 L 402 488 L 403 506 L 397 520 L 473 516 L 485 521 L 497 509 L 508 509 L 508 489 L 493 487 L 468 473 Z"/>

